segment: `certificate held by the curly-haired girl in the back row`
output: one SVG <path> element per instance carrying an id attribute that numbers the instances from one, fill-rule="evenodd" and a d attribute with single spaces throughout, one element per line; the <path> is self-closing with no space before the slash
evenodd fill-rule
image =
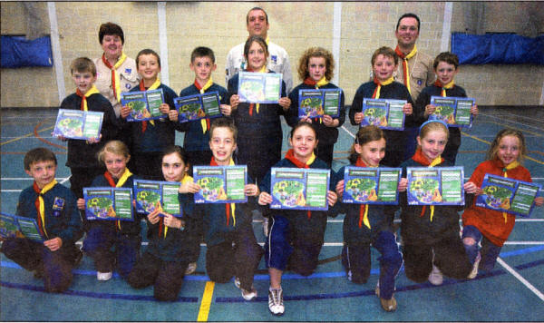
<path id="1" fill-rule="evenodd" d="M 298 90 L 298 118 L 337 117 L 340 113 L 342 89 Z"/>

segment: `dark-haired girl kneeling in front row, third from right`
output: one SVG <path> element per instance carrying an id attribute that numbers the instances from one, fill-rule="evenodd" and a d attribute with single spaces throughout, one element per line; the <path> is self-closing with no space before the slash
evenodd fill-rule
<path id="1" fill-rule="evenodd" d="M 385 155 L 384 132 L 374 126 L 359 129 L 352 146 L 349 158 L 357 167 L 379 167 Z M 345 167 L 335 173 L 336 194 L 341 199 L 344 194 Z M 398 191 L 406 191 L 406 179 L 399 182 Z M 370 245 L 380 251 L 380 279 L 376 287 L 376 295 L 384 310 L 390 312 L 397 307 L 393 297 L 394 279 L 403 264 L 403 255 L 399 251 L 393 234 L 392 217 L 384 213 L 392 208 L 386 205 L 339 204 L 345 213 L 344 249 L 342 264 L 347 278 L 357 284 L 366 283 L 370 276 Z"/>

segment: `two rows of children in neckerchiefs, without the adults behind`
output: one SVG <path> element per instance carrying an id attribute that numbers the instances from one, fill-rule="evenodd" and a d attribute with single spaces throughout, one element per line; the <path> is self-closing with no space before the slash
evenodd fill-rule
<path id="1" fill-rule="evenodd" d="M 247 72 L 273 73 L 267 70 L 267 43 L 261 37 L 249 37 L 244 54 Z M 397 188 L 401 193 L 399 205 L 341 202 L 344 168 L 332 171 L 326 194 L 329 210 L 270 210 L 271 167 L 331 169 L 337 128 L 345 122 L 344 93 L 337 117 L 298 120 L 297 111 L 298 90 L 337 88 L 330 83 L 334 72 L 332 54 L 320 47 L 307 49 L 298 66 L 303 83 L 288 95 L 282 83 L 278 103 L 258 104 L 240 103 L 237 75 L 228 82 L 228 90 L 213 83 L 211 73 L 217 67 L 214 54 L 207 47 L 198 47 L 189 64 L 195 81 L 180 96 L 218 91 L 220 111 L 225 117 L 187 123 L 178 122 L 173 104 L 176 94 L 160 83 L 159 55 L 149 49 L 142 50 L 136 63 L 141 81 L 131 91 L 162 89 L 165 100 L 160 111 L 167 117 L 154 122 L 126 122 L 131 108 L 123 106 L 120 118 L 116 119 L 111 103 L 93 85 L 94 64 L 87 58 L 78 58 L 71 65 L 76 93 L 68 96 L 61 107 L 101 111 L 104 122 L 99 138 L 86 142 L 68 140 L 71 191 L 54 181 L 56 159 L 52 152 L 38 148 L 24 157 L 24 169 L 34 178 L 34 185 L 21 193 L 17 214 L 36 218 L 45 241 L 8 239 L 2 245 L 2 252 L 24 269 L 34 270 L 37 277 L 43 277 L 47 291 L 62 292 L 70 286 L 72 269 L 82 256 L 75 241 L 85 233 L 83 252 L 93 259 L 98 280 L 111 279 L 117 270 L 133 288 L 153 285 L 156 299 L 174 300 L 184 276 L 196 269 L 200 241 L 204 240 L 209 279 L 220 283 L 234 279 L 247 300 L 257 298 L 253 278 L 260 259 L 265 256 L 270 276 L 268 308 L 279 316 L 285 312 L 283 272 L 290 269 L 311 275 L 324 244 L 327 217 L 345 213 L 342 263 L 347 279 L 358 284 L 367 281 L 373 246 L 381 254 L 375 293 L 384 310 L 393 311 L 397 308 L 394 280 L 403 263 L 406 276 L 417 282 L 429 279 L 433 284 L 441 284 L 442 273 L 455 279 L 473 278 L 478 268 L 492 269 L 500 247 L 510 235 L 514 216 L 476 207 L 473 197 L 481 193 L 485 173 L 530 181 L 529 171 L 520 165 L 526 150 L 521 132 L 499 132 L 491 144 L 488 160 L 464 184 L 467 210 L 462 215 L 461 237 L 458 211 L 463 208 L 408 205 L 405 178 Z M 415 103 L 406 87 L 393 80 L 398 64 L 393 49 L 376 50 L 371 64 L 374 80 L 357 89 L 349 111 L 350 121 L 355 125 L 363 120 L 364 98 L 406 100 L 403 106 L 406 124 L 420 126 L 418 148 L 411 159 L 403 161 L 403 132 L 365 126 L 356 133 L 351 164 L 401 167 L 404 177 L 406 167 L 453 165 L 461 143 L 460 132 L 444 122 L 426 119 L 435 109 L 430 104 L 431 95 L 466 96 L 453 83 L 459 65 L 457 57 L 450 53 L 437 56 L 433 67 L 438 80 L 425 88 Z M 478 113 L 476 105 L 471 113 Z M 288 139 L 291 149 L 283 159 L 281 115 L 292 127 Z M 184 148 L 174 145 L 176 131 L 186 132 Z M 193 194 L 200 187 L 189 175 L 190 166 L 234 164 L 248 165 L 249 180 L 244 188 L 248 203 L 195 204 Z M 84 216 L 81 219 L 80 211 L 85 208 L 83 187 L 131 188 L 135 178 L 179 182 L 181 217 L 155 210 L 141 218 L 137 216 L 134 221 L 87 221 Z M 535 204 L 541 205 L 543 201 L 537 198 Z M 269 218 L 264 250 L 253 232 L 252 210 L 261 210 Z M 397 210 L 401 210 L 402 250 L 393 229 Z M 143 219 L 148 225 L 150 243 L 141 252 Z"/>

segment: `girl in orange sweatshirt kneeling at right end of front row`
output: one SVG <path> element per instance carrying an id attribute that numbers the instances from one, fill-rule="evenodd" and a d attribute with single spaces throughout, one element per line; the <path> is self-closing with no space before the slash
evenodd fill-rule
<path id="1" fill-rule="evenodd" d="M 481 182 L 485 174 L 509 177 L 520 181 L 531 181 L 529 171 L 521 166 L 527 153 L 523 133 L 512 129 L 503 129 L 491 142 L 487 152 L 487 161 L 481 162 L 472 172 L 470 183 L 481 194 Z M 543 197 L 535 199 L 535 205 L 541 206 Z M 474 264 L 471 277 L 478 274 L 478 268 L 491 270 L 499 257 L 500 248 L 510 236 L 516 217 L 499 210 L 490 210 L 471 204 L 462 214 L 462 242 L 469 259 Z M 481 250 L 478 243 L 481 242 Z M 482 260 L 482 261 L 480 261 Z"/>

